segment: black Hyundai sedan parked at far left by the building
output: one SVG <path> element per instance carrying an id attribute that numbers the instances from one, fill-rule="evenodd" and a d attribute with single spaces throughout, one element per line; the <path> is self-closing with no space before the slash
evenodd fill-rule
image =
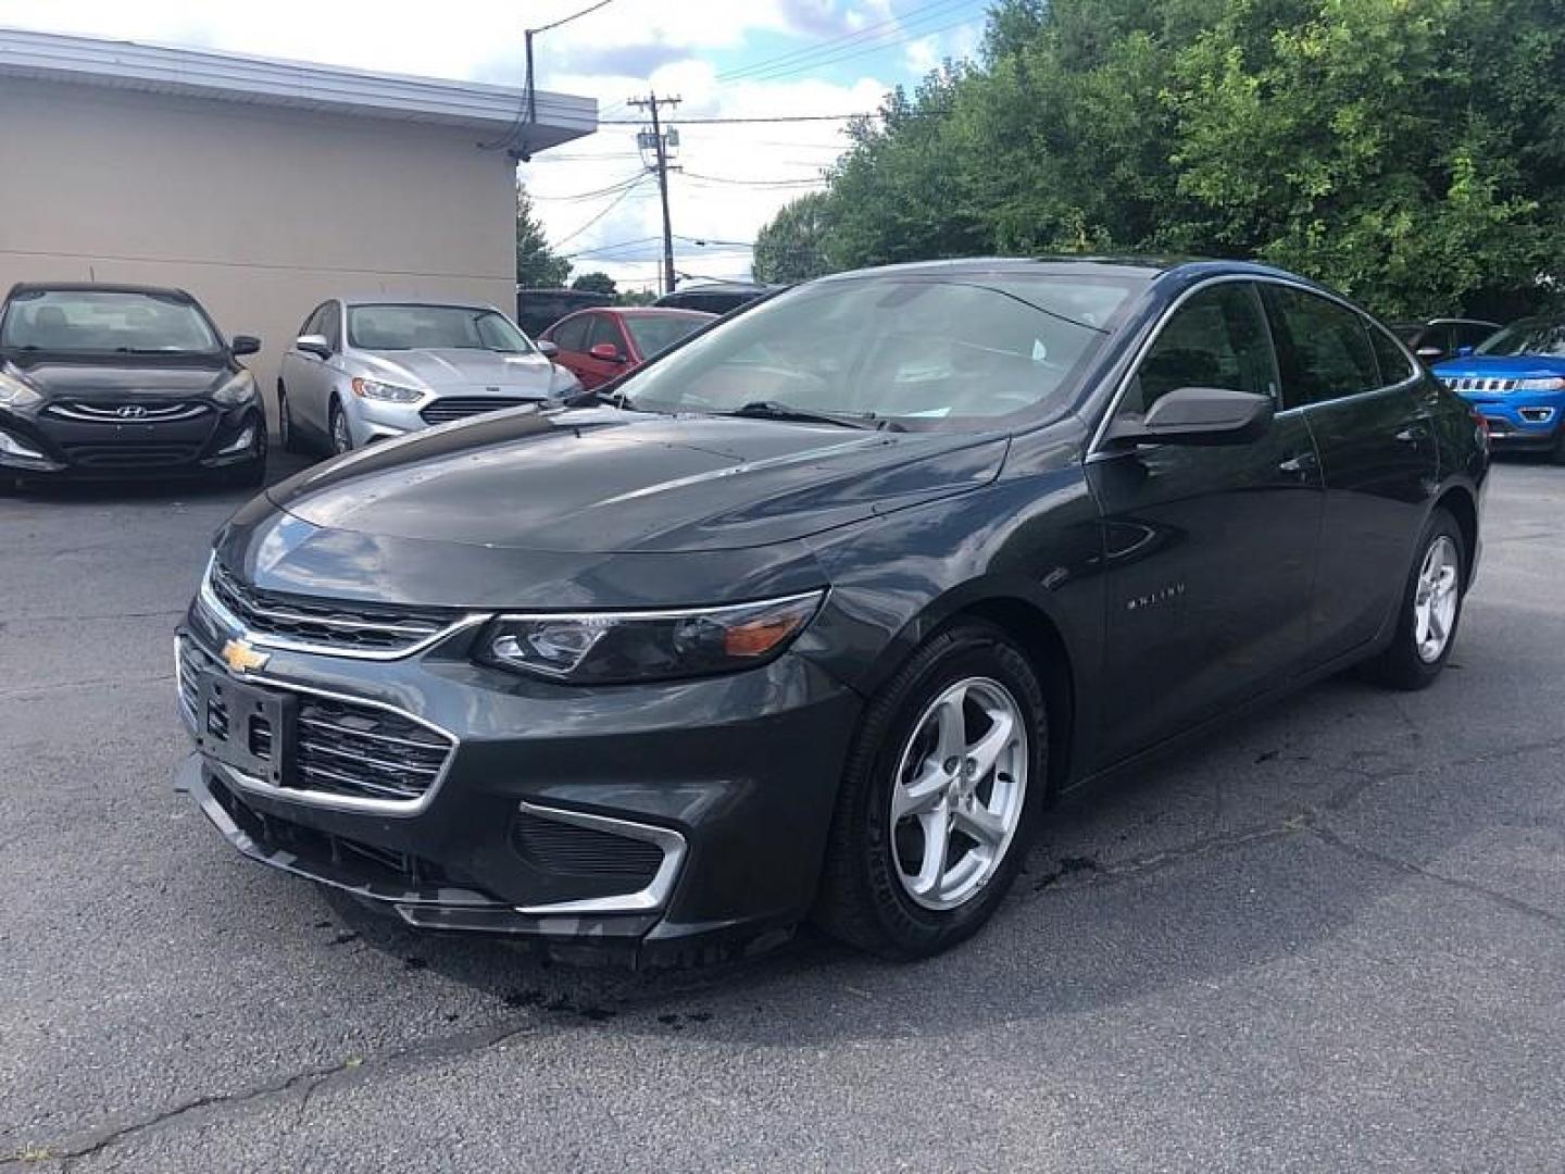
<path id="1" fill-rule="evenodd" d="M 17 285 L 0 307 L 0 482 L 199 474 L 260 485 L 266 416 L 183 290 Z"/>

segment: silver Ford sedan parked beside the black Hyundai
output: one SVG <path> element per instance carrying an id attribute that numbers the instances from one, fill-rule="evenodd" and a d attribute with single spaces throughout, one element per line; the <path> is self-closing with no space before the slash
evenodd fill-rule
<path id="1" fill-rule="evenodd" d="M 279 438 L 347 452 L 480 412 L 557 404 L 581 382 L 552 354 L 491 305 L 333 297 L 283 355 Z"/>

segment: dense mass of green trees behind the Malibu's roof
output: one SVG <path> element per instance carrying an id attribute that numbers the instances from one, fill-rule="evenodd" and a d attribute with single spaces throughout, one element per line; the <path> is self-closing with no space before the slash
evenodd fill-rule
<path id="1" fill-rule="evenodd" d="M 978 61 L 851 136 L 809 210 L 829 269 L 1247 257 L 1387 316 L 1565 277 L 1565 0 L 1000 0 Z"/>

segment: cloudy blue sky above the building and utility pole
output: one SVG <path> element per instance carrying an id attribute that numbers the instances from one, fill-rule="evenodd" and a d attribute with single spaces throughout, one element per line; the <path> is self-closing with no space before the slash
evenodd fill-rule
<path id="1" fill-rule="evenodd" d="M 970 56 L 988 0 L 610 0 L 540 33 L 538 89 L 595 97 L 604 119 L 656 91 L 679 97 L 670 177 L 676 269 L 748 277 L 745 247 L 789 199 L 822 188 L 844 122 L 681 125 L 687 117 L 872 111 L 945 58 Z M 0 0 L 0 25 L 520 86 L 523 30 L 595 0 Z M 521 178 L 576 272 L 654 288 L 657 185 L 635 125 L 604 125 L 523 164 Z M 606 194 L 603 189 L 612 188 Z M 698 244 L 704 241 L 704 244 Z"/>

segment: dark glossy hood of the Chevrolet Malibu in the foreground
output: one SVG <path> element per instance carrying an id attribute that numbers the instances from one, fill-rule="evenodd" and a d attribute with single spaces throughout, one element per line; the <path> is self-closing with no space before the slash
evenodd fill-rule
<path id="1" fill-rule="evenodd" d="M 1003 435 L 618 409 L 501 412 L 275 485 L 310 526 L 487 548 L 715 551 L 789 542 L 992 481 Z"/>

